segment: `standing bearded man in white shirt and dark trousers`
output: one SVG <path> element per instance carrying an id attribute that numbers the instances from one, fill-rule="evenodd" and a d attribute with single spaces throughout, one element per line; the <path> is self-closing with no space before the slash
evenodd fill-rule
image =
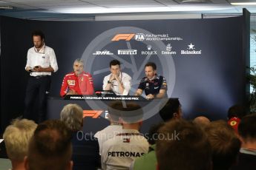
<path id="1" fill-rule="evenodd" d="M 34 47 L 27 51 L 26 71 L 30 72 L 24 100 L 24 118 L 40 123 L 46 118 L 47 94 L 50 90 L 51 72 L 58 70 L 56 55 L 52 48 L 45 45 L 45 35 L 41 30 L 32 33 Z M 33 104 L 38 95 L 39 105 L 33 115 Z"/>

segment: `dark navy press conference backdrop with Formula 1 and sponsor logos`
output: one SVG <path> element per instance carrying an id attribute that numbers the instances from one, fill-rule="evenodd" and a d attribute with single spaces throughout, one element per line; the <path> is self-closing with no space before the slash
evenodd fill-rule
<path id="1" fill-rule="evenodd" d="M 245 101 L 242 17 L 157 21 L 30 21 L 1 17 L 1 123 L 22 115 L 30 33 L 42 30 L 53 47 L 59 71 L 50 96 L 59 96 L 62 78 L 83 58 L 95 89 L 117 59 L 132 77 L 134 94 L 148 61 L 168 82 L 168 97 L 180 98 L 185 118 L 226 118 L 229 106 Z M 72 102 L 72 101 L 70 101 Z"/>

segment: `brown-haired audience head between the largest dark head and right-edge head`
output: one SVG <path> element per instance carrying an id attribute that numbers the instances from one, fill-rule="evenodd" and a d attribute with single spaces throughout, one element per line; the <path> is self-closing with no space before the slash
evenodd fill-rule
<path id="1" fill-rule="evenodd" d="M 240 140 L 225 120 L 211 122 L 205 128 L 211 144 L 213 169 L 228 170 L 236 162 Z"/>

